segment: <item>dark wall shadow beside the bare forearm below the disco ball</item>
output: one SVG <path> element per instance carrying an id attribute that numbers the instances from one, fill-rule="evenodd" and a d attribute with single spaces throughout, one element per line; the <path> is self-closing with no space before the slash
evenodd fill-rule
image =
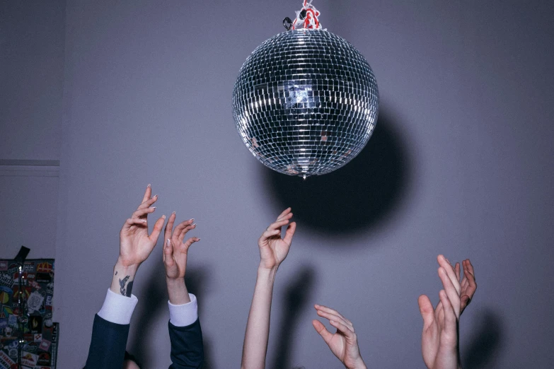
<path id="1" fill-rule="evenodd" d="M 294 275 L 289 281 L 282 298 L 283 314 L 281 325 L 277 333 L 277 351 L 272 360 L 272 365 L 268 368 L 291 369 L 292 353 L 291 348 L 294 345 L 294 328 L 298 327 L 298 320 L 302 312 L 308 307 L 313 283 L 315 281 L 316 271 L 311 266 L 303 266 L 302 269 Z M 300 323 L 302 324 L 302 322 Z"/>

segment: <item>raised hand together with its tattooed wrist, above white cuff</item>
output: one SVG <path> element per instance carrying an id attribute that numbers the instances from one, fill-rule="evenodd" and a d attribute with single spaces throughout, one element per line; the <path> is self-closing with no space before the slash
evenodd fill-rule
<path id="1" fill-rule="evenodd" d="M 131 295 L 132 283 L 137 269 L 151 254 L 158 242 L 161 228 L 166 216 L 154 223 L 152 233 L 148 234 L 148 214 L 154 213 L 151 206 L 158 200 L 158 195 L 151 197 L 152 188 L 146 187 L 142 203 L 132 216 L 125 221 L 120 231 L 120 255 L 113 268 L 112 292 L 120 295 Z"/>

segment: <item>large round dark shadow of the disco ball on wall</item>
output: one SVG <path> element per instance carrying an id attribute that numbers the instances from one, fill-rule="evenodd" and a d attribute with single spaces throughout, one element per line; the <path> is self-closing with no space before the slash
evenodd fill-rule
<path id="1" fill-rule="evenodd" d="M 275 211 L 291 206 L 303 228 L 331 236 L 381 225 L 398 208 L 410 183 L 410 160 L 394 123 L 382 109 L 366 147 L 326 175 L 302 180 L 260 165 Z"/>

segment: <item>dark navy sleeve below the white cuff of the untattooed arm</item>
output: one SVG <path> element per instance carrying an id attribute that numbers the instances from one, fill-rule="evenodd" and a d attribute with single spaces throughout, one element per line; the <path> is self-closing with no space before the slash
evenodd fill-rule
<path id="1" fill-rule="evenodd" d="M 186 327 L 175 327 L 169 322 L 171 366 L 169 369 L 200 369 L 204 365 L 204 344 L 200 320 Z"/>

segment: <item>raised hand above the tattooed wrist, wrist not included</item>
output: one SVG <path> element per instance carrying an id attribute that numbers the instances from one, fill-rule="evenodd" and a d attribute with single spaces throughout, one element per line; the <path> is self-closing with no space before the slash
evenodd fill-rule
<path id="1" fill-rule="evenodd" d="M 156 207 L 151 207 L 158 200 L 158 195 L 151 197 L 152 188 L 146 187 L 142 203 L 131 218 L 125 221 L 120 232 L 120 257 L 118 262 L 123 266 L 137 267 L 149 257 L 158 242 L 158 237 L 163 227 L 166 216 L 161 216 L 156 223 L 152 233 L 148 234 L 148 214 L 154 213 Z"/>

